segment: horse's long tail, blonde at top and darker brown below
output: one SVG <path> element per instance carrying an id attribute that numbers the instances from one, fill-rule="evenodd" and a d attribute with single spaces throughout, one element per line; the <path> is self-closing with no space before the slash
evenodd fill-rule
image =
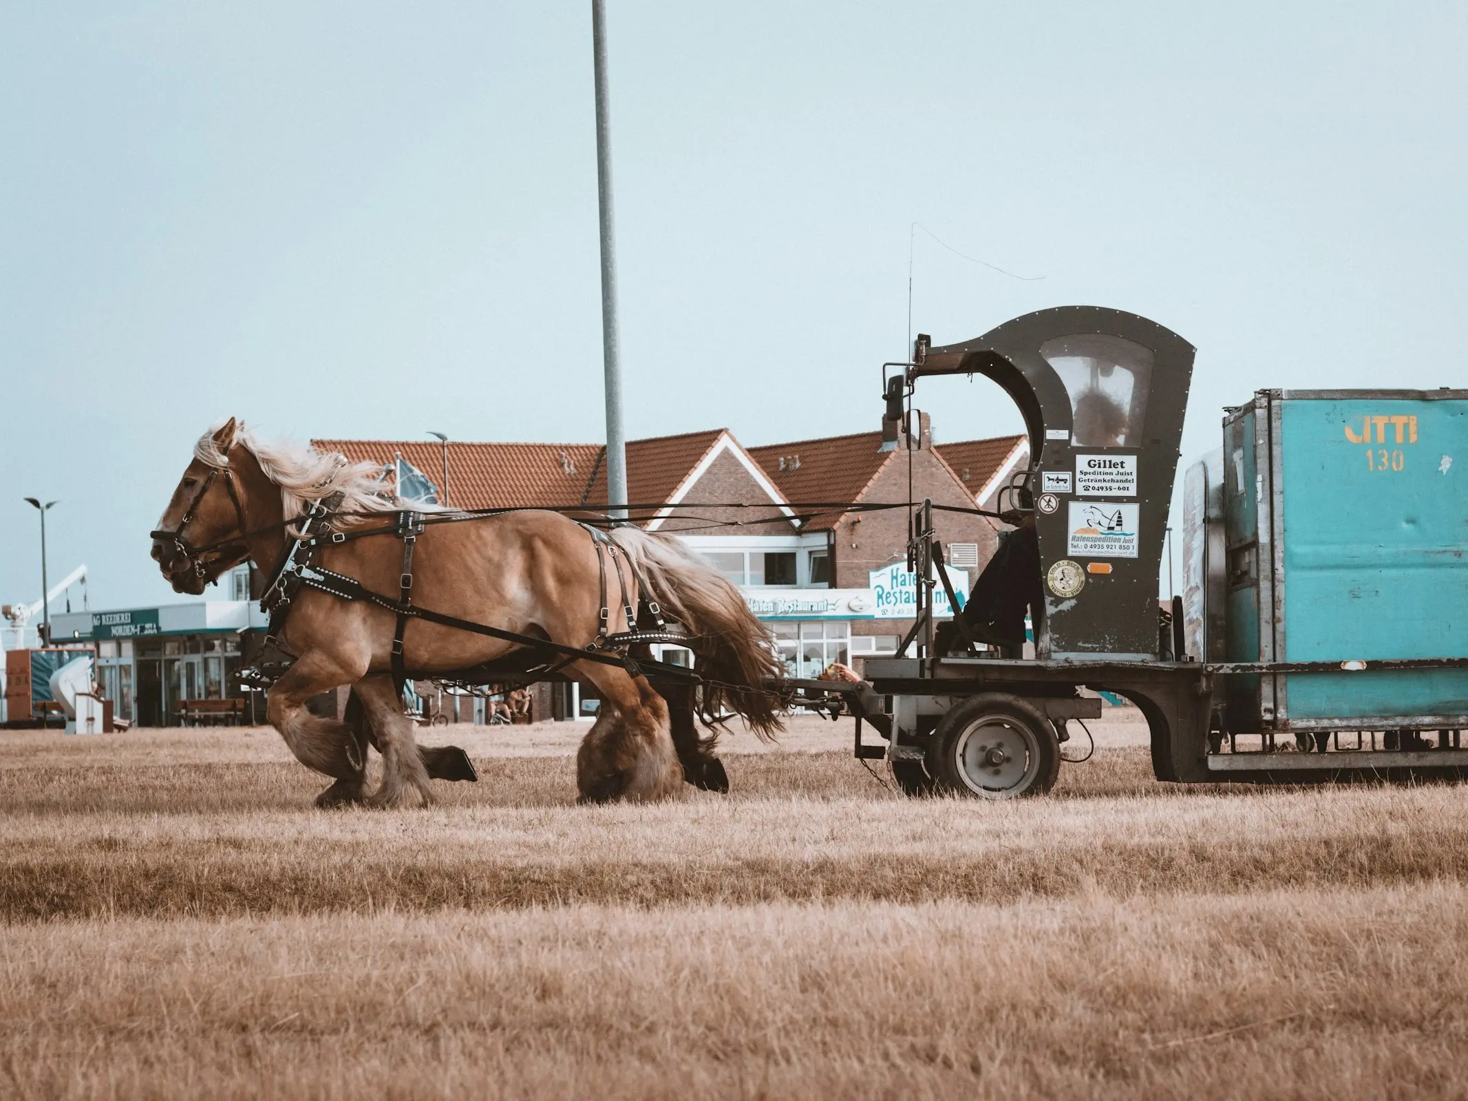
<path id="1" fill-rule="evenodd" d="M 738 589 L 713 573 L 674 536 L 618 527 L 612 539 L 627 552 L 637 577 L 664 612 L 693 639 L 705 684 L 703 712 L 728 706 L 750 730 L 769 740 L 780 728 L 785 668 L 775 642 L 753 617 Z"/>

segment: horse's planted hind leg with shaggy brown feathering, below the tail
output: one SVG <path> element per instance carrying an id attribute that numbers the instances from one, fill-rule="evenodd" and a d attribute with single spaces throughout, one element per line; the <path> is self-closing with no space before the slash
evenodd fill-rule
<path id="1" fill-rule="evenodd" d="M 611 665 L 580 666 L 602 693 L 608 713 L 597 715 L 575 755 L 583 802 L 666 799 L 678 791 L 683 768 L 668 730 L 668 706 L 644 677 Z"/>

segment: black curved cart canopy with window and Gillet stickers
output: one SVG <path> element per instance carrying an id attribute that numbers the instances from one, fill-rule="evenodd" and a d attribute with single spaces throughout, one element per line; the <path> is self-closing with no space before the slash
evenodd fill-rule
<path id="1" fill-rule="evenodd" d="M 1147 661 L 1158 653 L 1157 578 L 1193 346 L 1122 310 L 1067 305 L 973 341 L 919 352 L 907 368 L 984 374 L 1014 399 L 1035 498 L 1044 622 L 1039 658 Z"/>

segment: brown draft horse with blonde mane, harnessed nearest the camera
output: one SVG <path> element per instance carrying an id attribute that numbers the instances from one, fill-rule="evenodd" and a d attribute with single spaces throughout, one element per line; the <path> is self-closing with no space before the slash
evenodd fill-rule
<path id="1" fill-rule="evenodd" d="M 323 499 L 339 502 L 332 520 L 338 531 L 382 526 L 385 512 L 442 511 L 393 498 L 371 464 L 267 443 L 230 418 L 195 445 L 159 520 L 153 558 L 179 593 L 204 592 L 245 559 L 275 575 L 299 534 L 297 524 Z M 672 536 L 621 527 L 612 539 L 631 565 L 631 606 L 639 606 L 637 587 L 644 586 L 693 636 L 700 671 L 725 686 L 715 690 L 722 705 L 743 715 L 760 737 L 772 735 L 780 728 L 780 700 L 766 686 L 781 666 L 738 590 Z M 373 592 L 396 595 L 402 542 L 393 534 L 367 534 L 329 543 L 317 550 L 316 564 Z M 523 511 L 429 524 L 417 537 L 413 574 L 414 605 L 577 649 L 597 637 L 599 555 L 589 531 L 559 514 Z M 631 627 L 619 596 L 614 580 L 611 633 Z M 432 802 L 429 772 L 390 674 L 395 622 L 390 611 L 367 600 L 310 589 L 291 605 L 280 643 L 295 661 L 270 688 L 267 715 L 301 763 L 335 778 L 317 799 L 320 806 L 396 806 L 414 796 Z M 405 665 L 421 674 L 451 674 L 515 649 L 421 619 L 410 621 L 404 636 Z M 577 753 L 581 799 L 649 800 L 680 790 L 678 731 L 669 730 L 668 706 L 647 680 L 595 661 L 575 661 L 567 674 L 593 684 L 603 700 Z M 383 756 L 382 784 L 370 796 L 364 794 L 366 752 L 352 730 L 305 708 L 311 696 L 345 684 L 354 686 Z M 681 725 L 686 741 L 691 721 Z M 712 740 L 700 744 L 711 749 Z"/>

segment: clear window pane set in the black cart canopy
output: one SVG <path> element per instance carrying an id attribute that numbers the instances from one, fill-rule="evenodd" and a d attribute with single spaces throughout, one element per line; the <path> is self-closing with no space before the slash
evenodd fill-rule
<path id="1" fill-rule="evenodd" d="M 1151 348 L 1107 333 L 1076 333 L 1045 341 L 1039 354 L 1070 395 L 1076 446 L 1141 446 L 1152 386 Z"/>

